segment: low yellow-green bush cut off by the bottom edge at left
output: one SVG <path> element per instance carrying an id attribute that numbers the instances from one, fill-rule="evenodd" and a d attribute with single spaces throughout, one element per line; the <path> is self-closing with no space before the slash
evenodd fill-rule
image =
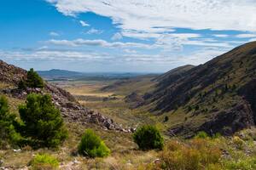
<path id="1" fill-rule="evenodd" d="M 48 154 L 38 154 L 31 161 L 33 170 L 56 169 L 59 164 L 59 161 L 54 156 L 49 156 Z"/>

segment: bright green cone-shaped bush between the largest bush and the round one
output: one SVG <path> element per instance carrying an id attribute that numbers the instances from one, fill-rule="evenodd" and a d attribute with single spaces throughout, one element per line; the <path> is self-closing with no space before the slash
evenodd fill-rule
<path id="1" fill-rule="evenodd" d="M 87 129 L 79 144 L 79 154 L 90 157 L 104 157 L 110 154 L 110 150 L 96 133 Z"/>

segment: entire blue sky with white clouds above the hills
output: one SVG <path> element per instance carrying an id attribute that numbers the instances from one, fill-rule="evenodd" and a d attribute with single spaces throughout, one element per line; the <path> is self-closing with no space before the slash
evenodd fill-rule
<path id="1" fill-rule="evenodd" d="M 165 72 L 256 41 L 256 0 L 1 0 L 0 59 L 24 69 Z"/>

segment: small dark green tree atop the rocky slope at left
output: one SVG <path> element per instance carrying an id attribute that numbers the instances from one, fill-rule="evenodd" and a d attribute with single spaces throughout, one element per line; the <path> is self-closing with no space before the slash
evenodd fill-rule
<path id="1" fill-rule="evenodd" d="M 26 80 L 21 80 L 18 88 L 44 88 L 44 80 L 39 77 L 36 71 L 30 69 L 30 71 L 27 71 Z"/>

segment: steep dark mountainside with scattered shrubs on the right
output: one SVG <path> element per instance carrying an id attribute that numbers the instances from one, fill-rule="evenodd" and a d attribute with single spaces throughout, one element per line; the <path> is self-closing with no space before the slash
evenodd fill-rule
<path id="1" fill-rule="evenodd" d="M 169 133 L 200 130 L 231 134 L 256 122 L 256 42 L 234 48 L 204 65 L 185 66 L 156 78 L 153 92 L 143 96 L 149 111 L 184 120 Z"/>

